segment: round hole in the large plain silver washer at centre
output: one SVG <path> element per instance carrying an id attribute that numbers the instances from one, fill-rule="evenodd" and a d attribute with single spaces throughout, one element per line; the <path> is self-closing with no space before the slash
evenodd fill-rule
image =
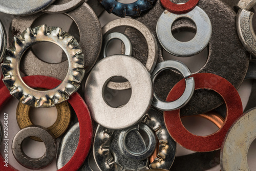
<path id="1" fill-rule="evenodd" d="M 126 82 L 128 80 L 124 77 L 117 76 L 110 79 L 110 81 Z M 122 105 L 125 105 L 130 100 L 132 96 L 132 89 L 113 90 L 105 86 L 102 90 L 102 95 L 107 104 L 109 104 L 112 108 L 118 108 Z"/>

